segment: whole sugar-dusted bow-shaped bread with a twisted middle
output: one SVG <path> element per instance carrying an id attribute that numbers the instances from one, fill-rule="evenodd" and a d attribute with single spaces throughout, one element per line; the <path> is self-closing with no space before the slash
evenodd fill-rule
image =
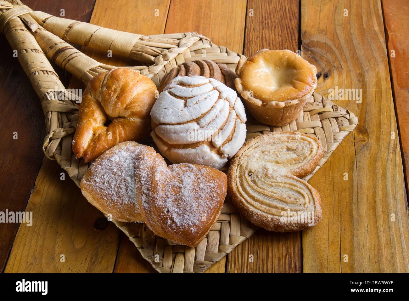
<path id="1" fill-rule="evenodd" d="M 227 177 L 207 166 L 166 166 L 153 148 L 128 141 L 91 164 L 81 190 L 114 220 L 145 222 L 155 234 L 195 247 L 220 216 Z"/>

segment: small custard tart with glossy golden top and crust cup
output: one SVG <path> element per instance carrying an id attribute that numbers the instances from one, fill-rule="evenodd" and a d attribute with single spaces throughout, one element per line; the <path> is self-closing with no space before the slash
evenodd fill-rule
<path id="1" fill-rule="evenodd" d="M 262 50 L 236 67 L 238 93 L 259 122 L 294 121 L 317 87 L 317 68 L 290 50 Z"/>

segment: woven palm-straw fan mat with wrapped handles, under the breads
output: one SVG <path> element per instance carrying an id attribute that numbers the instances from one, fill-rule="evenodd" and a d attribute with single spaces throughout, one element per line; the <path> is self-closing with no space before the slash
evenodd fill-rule
<path id="1" fill-rule="evenodd" d="M 116 53 L 142 61 L 131 68 L 151 78 L 158 88 L 166 73 L 185 61 L 205 58 L 224 63 L 234 70 L 238 60 L 244 57 L 226 47 L 215 45 L 209 38 L 197 33 L 156 36 L 122 33 L 34 12 L 20 1 L 0 1 L 0 13 L 0 30 L 6 35 L 13 49 L 18 51 L 18 59 L 43 106 L 48 133 L 43 151 L 48 158 L 56 160 L 78 186 L 89 166 L 82 159 L 75 158 L 71 149 L 79 104 L 76 103 L 75 97 L 72 97 L 73 100 L 58 100 L 57 93 L 49 91 L 50 88 L 58 87 L 68 96 L 66 98 L 74 96 L 61 84 L 49 60 L 84 82 L 115 67 L 98 63 L 70 46 L 67 43 L 70 34 L 70 41 L 74 40 L 79 45 L 100 50 L 105 50 L 105 45 L 115 43 L 118 45 Z M 77 30 L 80 34 L 73 35 L 72 30 Z M 96 32 L 103 32 L 105 41 L 92 40 L 96 38 Z M 125 43 L 124 38 L 126 41 L 131 39 L 132 42 Z M 307 100 L 297 120 L 284 127 L 259 124 L 254 122 L 249 114 L 247 116 L 247 139 L 270 131 L 299 131 L 316 136 L 320 140 L 324 155 L 317 168 L 304 178 L 307 181 L 358 123 L 352 112 L 317 93 Z M 226 171 L 227 167 L 223 170 Z M 256 226 L 240 216 L 229 196 L 225 199 L 220 218 L 195 248 L 177 245 L 155 236 L 143 223 L 112 222 L 129 237 L 157 271 L 165 273 L 204 272 L 257 230 Z"/>

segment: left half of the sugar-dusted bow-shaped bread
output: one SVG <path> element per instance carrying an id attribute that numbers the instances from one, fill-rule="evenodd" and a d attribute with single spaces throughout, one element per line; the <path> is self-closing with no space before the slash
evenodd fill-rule
<path id="1" fill-rule="evenodd" d="M 91 163 L 81 179 L 85 198 L 105 215 L 120 222 L 143 222 L 135 187 L 135 157 L 155 149 L 133 141 L 119 143 Z"/>

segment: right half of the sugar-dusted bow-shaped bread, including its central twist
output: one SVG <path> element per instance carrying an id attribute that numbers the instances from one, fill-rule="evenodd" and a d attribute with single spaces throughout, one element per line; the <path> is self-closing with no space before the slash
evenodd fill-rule
<path id="1" fill-rule="evenodd" d="M 226 175 L 196 164 L 166 166 L 160 154 L 137 156 L 138 203 L 146 225 L 156 235 L 195 247 L 220 215 Z"/>

